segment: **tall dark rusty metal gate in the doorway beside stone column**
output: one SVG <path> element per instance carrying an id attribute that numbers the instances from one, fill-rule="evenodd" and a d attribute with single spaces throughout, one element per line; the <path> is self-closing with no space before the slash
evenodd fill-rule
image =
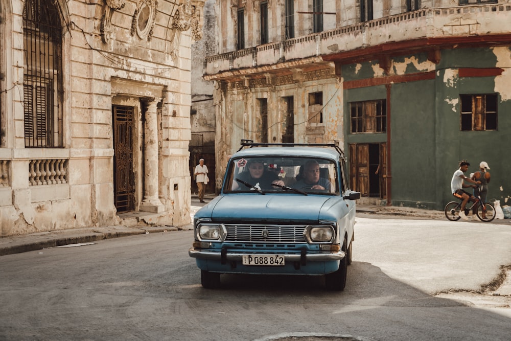
<path id="1" fill-rule="evenodd" d="M 113 202 L 117 213 L 135 210 L 135 177 L 133 174 L 134 109 L 112 106 L 113 117 Z"/>

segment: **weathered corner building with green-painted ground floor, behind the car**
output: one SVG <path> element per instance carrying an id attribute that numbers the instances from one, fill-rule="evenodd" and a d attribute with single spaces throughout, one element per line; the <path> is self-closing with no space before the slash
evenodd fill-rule
<path id="1" fill-rule="evenodd" d="M 489 198 L 509 204 L 506 0 L 217 0 L 215 11 L 204 78 L 216 82 L 217 165 L 241 139 L 339 141 L 361 201 L 443 209 L 468 159 L 469 172 L 489 163 Z"/>

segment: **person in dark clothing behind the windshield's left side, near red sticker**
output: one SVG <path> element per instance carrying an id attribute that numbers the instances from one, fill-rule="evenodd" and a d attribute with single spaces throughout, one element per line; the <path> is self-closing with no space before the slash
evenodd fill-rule
<path id="1" fill-rule="evenodd" d="M 277 174 L 265 170 L 266 166 L 262 160 L 249 160 L 245 169 L 248 169 L 248 171 L 245 170 L 241 172 L 238 176 L 236 176 L 236 178 L 245 181 L 256 188 L 261 190 L 270 190 L 275 189 L 275 187 L 271 186 L 272 184 L 284 186 L 284 181 L 279 179 Z M 238 183 L 238 181 L 233 181 L 233 191 L 248 189 L 244 187 L 246 186 Z"/>

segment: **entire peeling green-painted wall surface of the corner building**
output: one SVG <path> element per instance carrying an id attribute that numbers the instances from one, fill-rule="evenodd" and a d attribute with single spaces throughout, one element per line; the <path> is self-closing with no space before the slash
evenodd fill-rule
<path id="1" fill-rule="evenodd" d="M 403 63 L 409 57 L 394 61 Z M 415 58 L 425 60 L 424 55 Z M 507 172 L 511 164 L 511 101 L 502 101 L 502 97 L 511 96 L 501 96 L 495 77 L 458 76 L 460 67 L 494 68 L 497 62 L 491 49 L 446 50 L 436 65 L 434 80 L 391 84 L 388 151 L 392 205 L 443 210 L 453 199 L 451 177 L 462 159 L 471 162 L 467 176 L 478 170 L 480 161 L 486 161 L 492 174 L 488 197 L 511 205 L 511 175 Z M 342 77 L 344 81 L 375 77 L 374 65 L 377 63 L 346 65 Z M 406 74 L 420 72 L 412 63 L 405 70 Z M 511 92 L 511 84 L 501 88 Z M 459 96 L 494 93 L 499 95 L 498 130 L 461 131 Z M 345 150 L 349 143 L 386 142 L 385 133 L 350 133 L 349 103 L 381 98 L 386 98 L 383 85 L 344 90 Z"/>

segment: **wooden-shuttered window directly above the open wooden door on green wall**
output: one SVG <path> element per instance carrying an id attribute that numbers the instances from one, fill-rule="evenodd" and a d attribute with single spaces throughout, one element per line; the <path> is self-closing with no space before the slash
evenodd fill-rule
<path id="1" fill-rule="evenodd" d="M 387 131 L 386 100 L 352 102 L 351 132 L 385 132 Z"/>

